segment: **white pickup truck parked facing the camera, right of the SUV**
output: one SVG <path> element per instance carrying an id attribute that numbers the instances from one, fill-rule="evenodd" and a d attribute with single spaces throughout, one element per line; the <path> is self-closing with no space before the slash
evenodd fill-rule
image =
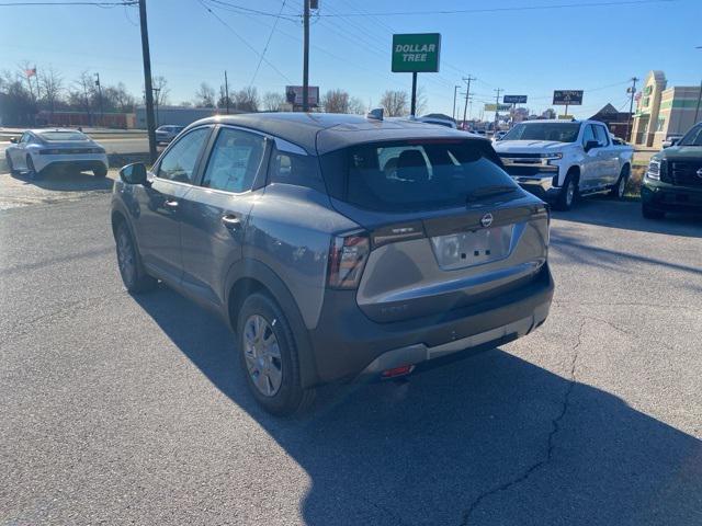
<path id="1" fill-rule="evenodd" d="M 598 121 L 528 121 L 492 146 L 524 190 L 563 210 L 579 195 L 622 198 L 634 149 Z"/>

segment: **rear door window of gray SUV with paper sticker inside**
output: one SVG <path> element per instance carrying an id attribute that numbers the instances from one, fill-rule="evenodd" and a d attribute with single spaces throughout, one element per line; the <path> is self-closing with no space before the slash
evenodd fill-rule
<path id="1" fill-rule="evenodd" d="M 241 193 L 251 190 L 265 151 L 265 139 L 240 129 L 222 128 L 202 185 Z"/>

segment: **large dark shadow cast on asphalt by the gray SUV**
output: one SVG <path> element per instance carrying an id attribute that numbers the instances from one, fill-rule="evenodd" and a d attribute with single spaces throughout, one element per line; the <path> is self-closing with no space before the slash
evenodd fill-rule
<path id="1" fill-rule="evenodd" d="M 405 382 L 322 388 L 309 413 L 276 419 L 217 318 L 165 287 L 135 299 L 304 468 L 306 524 L 700 523 L 699 439 L 503 350 Z M 577 348 L 564 346 L 568 363 Z"/>

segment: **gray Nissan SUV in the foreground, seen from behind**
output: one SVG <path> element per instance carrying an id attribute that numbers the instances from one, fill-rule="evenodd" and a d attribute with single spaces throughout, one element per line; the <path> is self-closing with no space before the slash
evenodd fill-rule
<path id="1" fill-rule="evenodd" d="M 122 169 L 112 227 L 131 293 L 157 279 L 219 313 L 256 399 L 394 378 L 546 319 L 550 214 L 490 142 L 411 121 L 219 116 L 147 172 Z"/>

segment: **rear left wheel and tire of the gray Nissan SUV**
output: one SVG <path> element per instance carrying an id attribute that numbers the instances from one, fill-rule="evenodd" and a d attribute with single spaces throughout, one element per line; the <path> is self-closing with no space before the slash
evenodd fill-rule
<path id="1" fill-rule="evenodd" d="M 302 387 L 293 331 L 271 297 L 256 293 L 244 301 L 237 318 L 237 341 L 249 389 L 265 411 L 290 415 L 309 405 L 314 389 Z"/>

